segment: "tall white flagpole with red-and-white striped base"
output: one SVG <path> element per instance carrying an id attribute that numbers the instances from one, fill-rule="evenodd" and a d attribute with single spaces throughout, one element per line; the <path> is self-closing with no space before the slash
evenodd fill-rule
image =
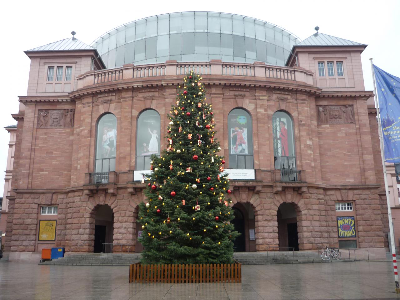
<path id="1" fill-rule="evenodd" d="M 390 208 L 390 198 L 389 198 L 389 188 L 388 188 L 388 177 L 386 175 L 386 164 L 385 164 L 385 156 L 384 156 L 384 145 L 383 145 L 383 137 L 382 137 L 382 125 L 381 125 L 381 118 L 380 118 L 380 111 L 379 111 L 379 104 L 378 104 L 378 93 L 376 92 L 376 85 L 375 85 L 375 73 L 374 67 L 372 66 L 372 58 L 371 61 L 371 71 L 372 71 L 372 82 L 374 83 L 374 100 L 375 100 L 375 108 L 376 114 L 378 116 L 378 134 L 379 134 L 379 144 L 380 144 L 380 157 L 382 159 L 382 168 L 383 168 L 383 179 L 385 182 L 385 191 L 386 191 L 386 202 L 388 205 L 388 219 L 389 219 L 389 232 L 390 232 L 390 244 L 392 248 L 392 259 L 393 259 L 393 269 L 394 269 L 394 281 L 396 283 L 396 294 L 400 293 L 399 288 L 399 276 L 397 272 L 397 260 L 396 260 L 396 246 L 394 243 L 394 234 L 393 234 L 393 222 L 392 222 L 392 210 Z"/>

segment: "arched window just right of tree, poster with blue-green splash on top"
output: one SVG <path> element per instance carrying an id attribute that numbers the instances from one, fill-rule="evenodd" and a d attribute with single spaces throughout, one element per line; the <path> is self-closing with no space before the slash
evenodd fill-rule
<path id="1" fill-rule="evenodd" d="M 235 108 L 228 114 L 229 168 L 254 169 L 253 128 L 250 114 Z"/>

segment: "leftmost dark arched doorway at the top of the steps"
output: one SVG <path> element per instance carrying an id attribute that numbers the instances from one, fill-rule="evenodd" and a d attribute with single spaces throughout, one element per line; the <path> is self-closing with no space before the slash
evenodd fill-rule
<path id="1" fill-rule="evenodd" d="M 94 253 L 112 252 L 114 234 L 114 212 L 107 204 L 100 205 L 95 209 L 94 226 Z"/>

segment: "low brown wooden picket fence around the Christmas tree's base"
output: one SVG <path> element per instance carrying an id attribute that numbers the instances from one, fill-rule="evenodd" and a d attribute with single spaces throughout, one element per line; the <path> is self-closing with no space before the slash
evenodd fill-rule
<path id="1" fill-rule="evenodd" d="M 242 265 L 131 264 L 129 283 L 242 282 Z"/>

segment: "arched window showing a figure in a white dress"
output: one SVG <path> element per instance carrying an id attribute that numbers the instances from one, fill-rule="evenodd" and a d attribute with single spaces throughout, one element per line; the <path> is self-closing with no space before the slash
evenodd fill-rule
<path id="1" fill-rule="evenodd" d="M 160 155 L 160 115 L 154 109 L 144 110 L 136 126 L 136 170 L 150 170 L 150 156 Z"/>

